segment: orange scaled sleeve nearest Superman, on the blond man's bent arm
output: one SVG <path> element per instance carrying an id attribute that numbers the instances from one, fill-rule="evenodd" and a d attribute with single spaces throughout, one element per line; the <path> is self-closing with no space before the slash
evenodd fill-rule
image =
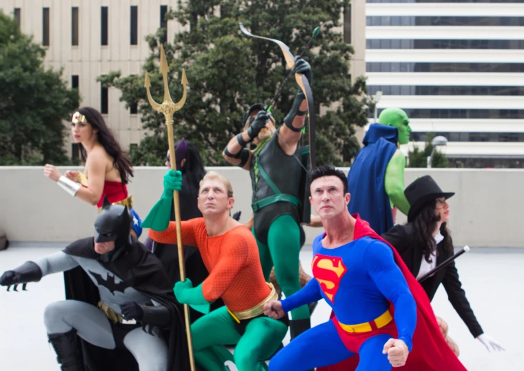
<path id="1" fill-rule="evenodd" d="M 222 241 L 221 246 L 212 246 L 209 243 L 209 249 L 221 249 L 219 261 L 202 283 L 204 299 L 212 303 L 228 290 L 235 277 L 244 268 L 248 260 L 249 246 L 243 236 L 232 234 Z"/>

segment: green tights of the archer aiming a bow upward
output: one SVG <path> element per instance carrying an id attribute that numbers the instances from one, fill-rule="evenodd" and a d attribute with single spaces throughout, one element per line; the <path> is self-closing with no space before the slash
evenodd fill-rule
<path id="1" fill-rule="evenodd" d="M 253 234 L 256 239 L 256 234 Z M 268 232 L 268 245 L 256 239 L 259 245 L 260 262 L 266 281 L 269 281 L 274 266 L 276 281 L 285 297 L 290 297 L 301 289 L 299 277 L 300 227 L 291 215 L 281 215 L 274 219 Z M 308 305 L 291 311 L 292 319 L 310 318 Z"/>

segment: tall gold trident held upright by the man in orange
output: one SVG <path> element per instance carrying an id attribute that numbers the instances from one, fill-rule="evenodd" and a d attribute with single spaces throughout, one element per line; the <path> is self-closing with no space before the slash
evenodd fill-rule
<path id="1" fill-rule="evenodd" d="M 165 53 L 163 51 L 163 46 L 160 46 L 160 72 L 163 76 L 164 82 L 164 100 L 162 104 L 159 104 L 154 101 L 151 97 L 151 92 L 149 88 L 151 87 L 151 82 L 149 81 L 148 72 L 145 72 L 145 82 L 143 86 L 148 91 L 148 100 L 152 108 L 159 112 L 162 112 L 165 117 L 165 124 L 168 126 L 168 141 L 169 141 L 169 155 L 171 162 L 171 169 L 177 170 L 177 159 L 174 158 L 174 136 L 173 136 L 173 114 L 182 108 L 185 103 L 185 97 L 187 95 L 187 85 L 188 79 L 185 77 L 185 70 L 182 70 L 182 85 L 184 87 L 184 92 L 182 98 L 177 103 L 174 103 L 169 94 L 168 86 L 168 61 L 165 59 Z M 181 236 L 181 226 L 180 226 L 180 201 L 179 201 L 179 192 L 173 191 L 173 203 L 174 203 L 174 216 L 177 219 L 177 245 L 179 248 L 179 267 L 180 267 L 180 281 L 185 281 L 185 265 L 184 265 L 184 252 L 182 245 L 182 236 Z M 194 358 L 193 358 L 193 342 L 191 337 L 191 328 L 189 321 L 189 306 L 184 304 L 184 317 L 185 317 L 185 332 L 188 334 L 188 348 L 189 348 L 189 359 L 191 370 L 194 371 Z"/>

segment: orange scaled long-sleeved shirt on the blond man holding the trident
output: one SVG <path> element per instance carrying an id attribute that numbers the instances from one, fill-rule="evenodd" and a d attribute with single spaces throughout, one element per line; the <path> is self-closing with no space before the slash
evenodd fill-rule
<path id="1" fill-rule="evenodd" d="M 210 275 L 202 283 L 204 299 L 212 303 L 222 298 L 232 312 L 253 308 L 268 297 L 259 248 L 251 231 L 238 225 L 219 236 L 208 236 L 203 218 L 181 222 L 184 245 L 200 250 Z M 172 221 L 163 232 L 149 230 L 149 237 L 159 243 L 177 244 L 177 224 Z"/>

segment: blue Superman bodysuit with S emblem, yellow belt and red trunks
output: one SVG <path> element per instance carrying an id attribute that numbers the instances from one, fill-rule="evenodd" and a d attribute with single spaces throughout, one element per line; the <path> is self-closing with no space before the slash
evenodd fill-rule
<path id="1" fill-rule="evenodd" d="M 416 303 L 392 249 L 371 237 L 327 249 L 322 239 L 323 234 L 313 243 L 314 278 L 283 300 L 282 308 L 287 313 L 323 298 L 336 318 L 296 337 L 273 357 L 270 371 L 310 370 L 338 363 L 357 352 L 360 363 L 356 370 L 391 370 L 387 354 L 382 354 L 384 344 L 398 330 L 397 339 L 411 350 L 416 327 Z M 394 321 L 387 313 L 391 304 Z M 354 328 L 359 330 L 347 330 L 357 324 Z M 365 326 L 370 328 L 365 330 Z"/>

